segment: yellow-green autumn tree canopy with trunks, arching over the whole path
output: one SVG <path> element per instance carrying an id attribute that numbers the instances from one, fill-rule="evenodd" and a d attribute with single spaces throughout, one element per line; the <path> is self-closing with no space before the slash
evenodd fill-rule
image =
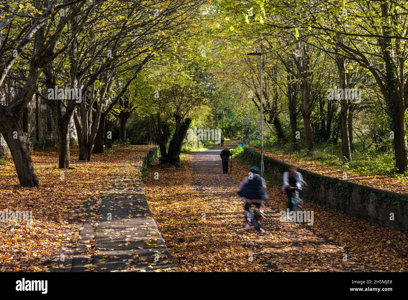
<path id="1" fill-rule="evenodd" d="M 80 161 L 117 140 L 158 144 L 162 161 L 177 163 L 198 122 L 257 146 L 260 65 L 246 55 L 255 50 L 271 147 L 313 155 L 339 145 L 346 164 L 369 152 L 406 172 L 408 2 L 0 5 L 0 132 L 23 186 L 39 185 L 22 131 L 34 98 L 51 110 L 60 169 L 74 127 Z"/>

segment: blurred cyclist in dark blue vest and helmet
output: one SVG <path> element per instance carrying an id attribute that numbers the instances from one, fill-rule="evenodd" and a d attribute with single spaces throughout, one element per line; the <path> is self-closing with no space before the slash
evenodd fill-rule
<path id="1" fill-rule="evenodd" d="M 251 167 L 249 175 L 246 176 L 244 180 L 242 180 L 240 191 L 238 192 L 239 196 L 246 198 L 244 208 L 244 215 L 246 220 L 245 229 L 251 228 L 251 220 L 248 219 L 250 216 L 249 208 L 252 204 L 255 204 L 258 209 L 258 213 L 262 217 L 264 216 L 262 204 L 269 198 L 266 194 L 265 188 L 265 179 L 259 176 L 259 168 Z"/>

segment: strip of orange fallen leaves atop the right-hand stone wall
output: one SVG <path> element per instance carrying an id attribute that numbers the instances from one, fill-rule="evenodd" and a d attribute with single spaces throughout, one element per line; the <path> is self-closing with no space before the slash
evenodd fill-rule
<path id="1" fill-rule="evenodd" d="M 258 148 L 250 147 L 250 149 L 260 152 Z M 343 179 L 343 170 L 337 167 L 330 166 L 330 164 L 319 162 L 316 160 L 308 160 L 307 158 L 299 159 L 290 154 L 278 154 L 264 151 L 265 156 L 281 160 L 288 164 L 295 164 L 298 168 L 302 168 L 317 174 L 330 176 L 333 178 Z M 408 180 L 398 179 L 392 176 L 368 174 L 357 171 L 347 171 L 347 180 L 364 184 L 377 189 L 384 189 L 398 193 L 408 194 Z"/>

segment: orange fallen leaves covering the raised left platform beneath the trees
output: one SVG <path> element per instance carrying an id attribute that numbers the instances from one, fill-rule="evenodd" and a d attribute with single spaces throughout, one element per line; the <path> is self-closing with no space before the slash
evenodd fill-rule
<path id="1" fill-rule="evenodd" d="M 58 149 L 34 151 L 39 188 L 21 187 L 7 158 L 0 165 L 0 211 L 32 211 L 33 223 L 0 224 L 0 271 L 49 271 L 50 257 L 78 241 L 84 206 L 97 207 L 106 187 L 115 185 L 115 174 L 151 147 L 115 147 L 111 153 L 93 155 L 91 162 L 72 161 L 73 169 L 64 170 L 58 169 Z M 77 157 L 78 147 L 73 147 L 71 159 Z"/>

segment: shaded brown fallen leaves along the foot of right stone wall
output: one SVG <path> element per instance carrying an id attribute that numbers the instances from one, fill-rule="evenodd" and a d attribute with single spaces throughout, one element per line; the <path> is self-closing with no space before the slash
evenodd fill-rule
<path id="1" fill-rule="evenodd" d="M 304 166 L 302 166 L 304 167 Z M 249 166 L 237 161 L 233 177 L 240 180 L 248 174 Z M 286 193 L 280 185 L 267 183 L 270 197 L 267 204 L 276 211 L 286 210 Z M 314 212 L 314 223 L 307 228 L 314 233 L 345 247 L 349 258 L 375 266 L 379 271 L 408 271 L 408 235 L 367 220 L 324 209 L 318 203 L 304 200 L 304 209 Z"/>

